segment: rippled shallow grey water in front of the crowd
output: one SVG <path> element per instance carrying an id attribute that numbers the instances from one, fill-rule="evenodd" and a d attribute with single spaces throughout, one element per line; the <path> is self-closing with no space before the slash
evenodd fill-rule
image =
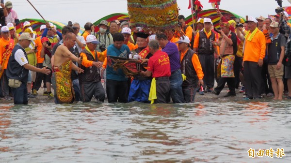
<path id="1" fill-rule="evenodd" d="M 0 163 L 291 163 L 291 106 L 0 104 Z"/>

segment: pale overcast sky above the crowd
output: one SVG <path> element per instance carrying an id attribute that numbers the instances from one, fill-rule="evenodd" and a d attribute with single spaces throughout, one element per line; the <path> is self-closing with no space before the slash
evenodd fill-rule
<path id="1" fill-rule="evenodd" d="M 208 1 L 200 0 L 204 10 L 212 9 Z M 6 0 L 4 0 L 5 2 Z M 41 19 L 27 0 L 11 0 L 11 2 L 19 20 L 24 18 Z M 127 0 L 30 0 L 30 2 L 46 20 L 62 23 L 79 22 L 81 27 L 86 22 L 94 23 L 113 13 L 128 13 Z M 188 10 L 189 0 L 177 0 L 177 3 L 180 15 L 185 17 L 191 15 L 191 11 Z M 220 9 L 242 17 L 245 15 L 254 17 L 275 15 L 275 8 L 278 7 L 275 0 L 221 0 L 220 4 Z M 291 6 L 291 4 L 288 0 L 283 0 L 284 6 Z"/>

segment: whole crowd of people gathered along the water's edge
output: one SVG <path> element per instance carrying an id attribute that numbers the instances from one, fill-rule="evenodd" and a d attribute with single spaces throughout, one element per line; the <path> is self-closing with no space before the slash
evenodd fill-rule
<path id="1" fill-rule="evenodd" d="M 19 20 L 12 3 L 1 3 L 0 97 L 14 104 L 28 104 L 44 83 L 43 95 L 56 104 L 81 101 L 97 103 L 193 103 L 199 95 L 236 96 L 245 100 L 291 99 L 291 24 L 286 12 L 275 20 L 249 16 L 226 20 L 220 13 L 220 28 L 210 18 L 199 18 L 196 28 L 178 16 L 179 30 L 158 33 L 131 28 L 127 21 L 88 22 L 84 33 L 79 23 L 56 29 L 52 23 L 40 27 Z M 182 33 L 182 34 L 181 34 Z M 115 59 L 142 65 L 128 75 Z M 214 88 L 215 80 L 217 86 Z M 104 81 L 104 85 L 102 82 Z M 51 88 L 52 86 L 52 88 Z M 53 91 L 52 91 L 53 89 Z"/>

